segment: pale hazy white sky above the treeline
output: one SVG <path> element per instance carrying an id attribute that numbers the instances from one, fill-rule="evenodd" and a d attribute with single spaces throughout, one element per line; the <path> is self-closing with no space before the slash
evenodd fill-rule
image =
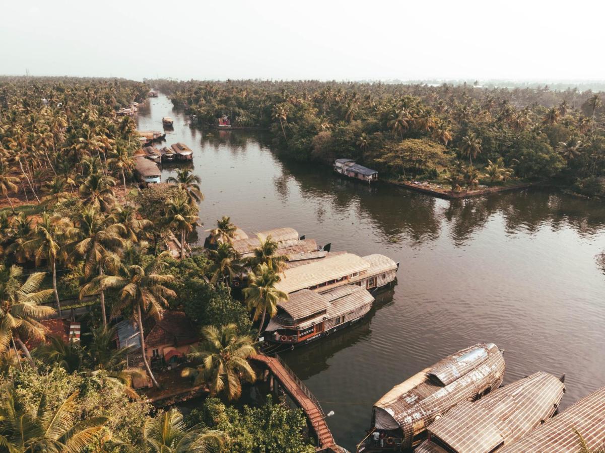
<path id="1" fill-rule="evenodd" d="M 605 79 L 598 1 L 2 0 L 0 74 Z"/>

